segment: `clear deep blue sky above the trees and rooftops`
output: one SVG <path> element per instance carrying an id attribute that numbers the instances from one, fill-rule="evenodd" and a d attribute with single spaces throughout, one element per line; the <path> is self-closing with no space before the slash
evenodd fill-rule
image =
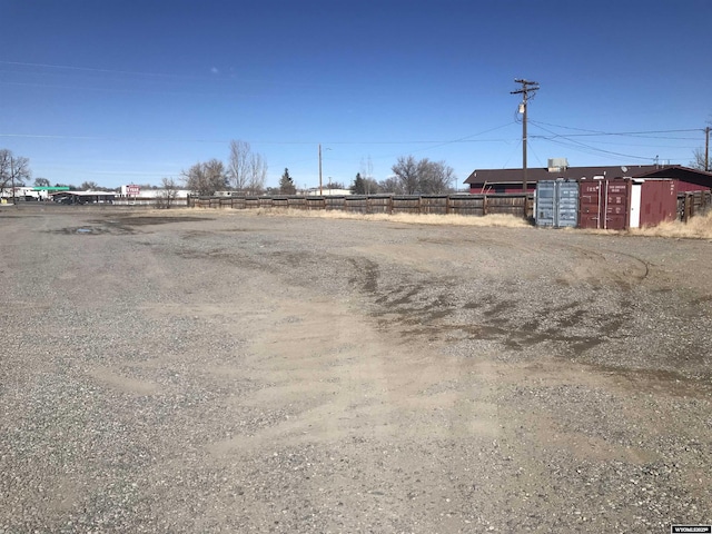
<path id="1" fill-rule="evenodd" d="M 399 156 L 688 165 L 712 119 L 712 2 L 0 0 L 0 148 L 33 177 L 159 184 L 248 141 L 276 186 Z"/>

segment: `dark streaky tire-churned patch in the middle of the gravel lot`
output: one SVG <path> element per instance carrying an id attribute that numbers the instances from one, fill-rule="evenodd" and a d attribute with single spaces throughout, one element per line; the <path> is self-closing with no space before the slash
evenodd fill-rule
<path id="1" fill-rule="evenodd" d="M 590 254 L 589 263 L 600 256 Z M 627 319 L 629 300 L 623 296 L 617 312 L 595 309 L 581 299 L 540 301 L 535 310 L 512 288 L 493 290 L 485 284 L 477 300 L 462 300 L 456 286 L 442 277 L 404 273 L 398 286 L 379 281 L 374 260 L 350 259 L 350 284 L 366 297 L 370 316 L 379 328 L 399 332 L 403 337 L 428 342 L 447 338 L 495 340 L 504 348 L 521 352 L 542 344 L 557 344 L 566 352 L 583 354 L 606 339 L 621 335 Z M 617 281 L 616 281 L 617 286 Z"/>

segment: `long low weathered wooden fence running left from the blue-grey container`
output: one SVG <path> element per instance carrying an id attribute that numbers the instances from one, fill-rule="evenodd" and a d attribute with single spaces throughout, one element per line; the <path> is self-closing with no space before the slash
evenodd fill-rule
<path id="1" fill-rule="evenodd" d="M 436 214 L 533 217 L 532 195 L 344 195 L 188 197 L 191 208 L 337 210 L 354 214 Z"/>

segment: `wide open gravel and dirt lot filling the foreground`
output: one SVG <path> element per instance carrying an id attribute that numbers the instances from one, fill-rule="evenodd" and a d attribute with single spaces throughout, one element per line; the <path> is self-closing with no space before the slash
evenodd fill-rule
<path id="1" fill-rule="evenodd" d="M 712 241 L 0 209 L 0 532 L 712 523 Z"/>

